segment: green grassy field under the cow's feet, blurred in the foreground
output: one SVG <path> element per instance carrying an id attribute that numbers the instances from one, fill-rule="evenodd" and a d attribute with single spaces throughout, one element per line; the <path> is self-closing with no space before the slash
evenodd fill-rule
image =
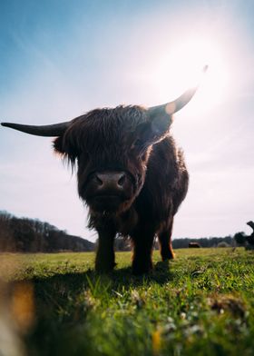
<path id="1" fill-rule="evenodd" d="M 5 324 L 12 355 L 254 355 L 254 253 L 176 254 L 166 264 L 155 252 L 140 278 L 129 252 L 107 276 L 93 253 L 0 255 L 0 334 Z"/>

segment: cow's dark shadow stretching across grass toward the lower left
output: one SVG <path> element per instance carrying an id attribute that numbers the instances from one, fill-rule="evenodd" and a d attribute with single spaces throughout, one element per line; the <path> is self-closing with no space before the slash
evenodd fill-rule
<path id="1" fill-rule="evenodd" d="M 98 341 L 94 342 L 93 334 L 100 335 L 102 311 L 107 313 L 112 307 L 121 309 L 125 302 L 141 310 L 142 293 L 132 291 L 139 286 L 146 290 L 154 284 L 163 285 L 172 279 L 170 263 L 157 262 L 153 272 L 144 276 L 133 276 L 128 267 L 109 274 L 88 270 L 30 280 L 34 288 L 36 323 L 25 341 L 28 354 L 104 355 L 94 346 Z M 122 322 L 129 325 L 132 316 L 126 315 Z M 104 342 L 107 339 L 103 339 Z"/>

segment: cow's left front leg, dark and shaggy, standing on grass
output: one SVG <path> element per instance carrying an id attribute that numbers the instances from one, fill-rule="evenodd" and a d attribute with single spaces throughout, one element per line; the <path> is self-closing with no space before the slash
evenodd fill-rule
<path id="1" fill-rule="evenodd" d="M 98 233 L 99 239 L 95 259 L 95 270 L 97 272 L 111 272 L 115 266 L 113 251 L 115 232 L 109 230 L 98 231 Z"/>

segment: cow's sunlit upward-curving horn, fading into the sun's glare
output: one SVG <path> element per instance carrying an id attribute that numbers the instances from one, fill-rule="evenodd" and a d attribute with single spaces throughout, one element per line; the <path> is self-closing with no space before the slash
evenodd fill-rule
<path id="1" fill-rule="evenodd" d="M 208 69 L 208 65 L 205 65 L 203 67 L 203 73 L 205 73 L 207 71 L 207 69 Z M 178 112 L 179 110 L 181 110 L 183 108 L 183 106 L 185 106 L 186 104 L 188 104 L 190 102 L 190 99 L 196 93 L 198 87 L 199 87 L 199 85 L 188 89 L 186 92 L 181 94 L 181 96 L 179 96 L 173 102 L 170 102 L 167 104 L 161 104 L 161 105 L 157 105 L 157 106 L 152 106 L 148 109 L 148 111 L 150 112 L 150 114 L 152 114 L 152 116 L 156 115 L 156 113 L 158 113 L 158 114 L 166 113 L 169 115 L 174 114 L 174 113 Z"/>

